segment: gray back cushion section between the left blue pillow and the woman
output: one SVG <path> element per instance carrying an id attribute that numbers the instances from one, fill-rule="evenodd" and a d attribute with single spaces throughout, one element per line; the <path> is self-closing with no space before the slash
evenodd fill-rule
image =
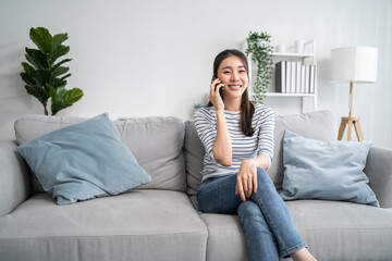
<path id="1" fill-rule="evenodd" d="M 130 117 L 115 121 L 124 144 L 152 176 L 140 188 L 186 191 L 184 123 L 177 117 Z"/>

